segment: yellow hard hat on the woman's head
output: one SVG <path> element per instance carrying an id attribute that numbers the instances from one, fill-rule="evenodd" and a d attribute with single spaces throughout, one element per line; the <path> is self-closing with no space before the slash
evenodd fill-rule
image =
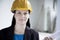
<path id="1" fill-rule="evenodd" d="M 28 0 L 15 0 L 11 7 L 11 11 L 13 12 L 14 10 L 29 10 L 32 12 L 32 7 Z"/>

